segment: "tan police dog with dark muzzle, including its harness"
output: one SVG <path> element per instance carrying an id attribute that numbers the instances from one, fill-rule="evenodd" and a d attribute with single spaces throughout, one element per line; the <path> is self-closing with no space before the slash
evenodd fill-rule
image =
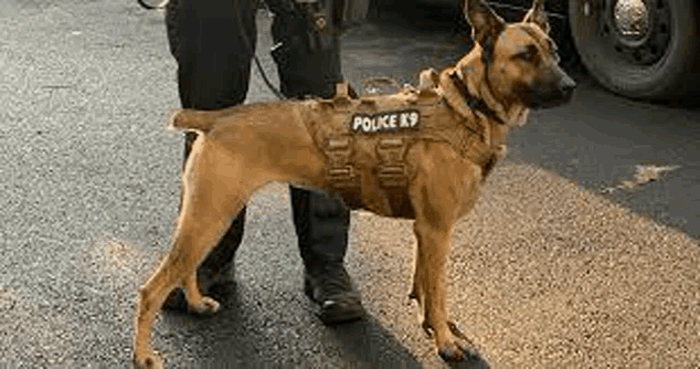
<path id="1" fill-rule="evenodd" d="M 185 289 L 195 312 L 219 304 L 198 289 L 197 268 L 256 189 L 272 181 L 340 194 L 349 207 L 415 220 L 411 297 L 439 355 L 477 355 L 447 318 L 445 264 L 455 223 L 475 204 L 508 131 L 530 108 L 571 99 L 575 83 L 558 66 L 542 0 L 505 23 L 481 0 L 465 14 L 477 44 L 454 67 L 425 71 L 417 89 L 352 99 L 252 104 L 219 112 L 179 110 L 172 127 L 200 133 L 182 177 L 172 250 L 140 288 L 134 361 L 161 367 L 150 345 L 163 301 Z"/>

